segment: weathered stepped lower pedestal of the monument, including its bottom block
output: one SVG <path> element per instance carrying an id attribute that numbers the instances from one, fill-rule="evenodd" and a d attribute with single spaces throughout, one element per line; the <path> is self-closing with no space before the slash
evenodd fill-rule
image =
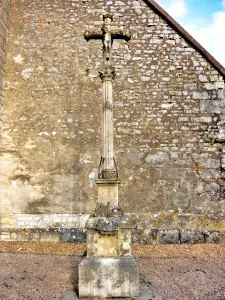
<path id="1" fill-rule="evenodd" d="M 87 257 L 79 265 L 80 298 L 139 296 L 139 271 L 131 249 L 129 216 L 90 217 Z"/>

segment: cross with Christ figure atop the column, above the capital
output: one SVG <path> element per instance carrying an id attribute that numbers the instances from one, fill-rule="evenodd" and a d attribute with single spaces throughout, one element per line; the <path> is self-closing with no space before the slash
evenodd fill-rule
<path id="1" fill-rule="evenodd" d="M 111 67 L 112 64 L 112 43 L 114 39 L 124 39 L 129 41 L 131 34 L 127 31 L 123 31 L 112 25 L 113 15 L 103 15 L 103 25 L 101 31 L 85 31 L 84 37 L 87 41 L 102 40 L 103 43 L 103 62 L 104 67 Z"/>

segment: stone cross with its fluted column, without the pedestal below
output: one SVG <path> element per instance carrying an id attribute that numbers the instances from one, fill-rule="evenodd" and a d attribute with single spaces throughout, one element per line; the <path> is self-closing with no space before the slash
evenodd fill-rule
<path id="1" fill-rule="evenodd" d="M 117 179 L 117 170 L 113 155 L 113 96 L 112 81 L 115 77 L 115 69 L 112 67 L 112 43 L 114 39 L 129 41 L 131 35 L 121 29 L 112 26 L 113 16 L 103 16 L 101 31 L 86 31 L 84 37 L 87 41 L 91 39 L 102 40 L 103 43 L 103 68 L 99 75 L 103 82 L 103 157 L 100 166 L 100 178 Z"/>

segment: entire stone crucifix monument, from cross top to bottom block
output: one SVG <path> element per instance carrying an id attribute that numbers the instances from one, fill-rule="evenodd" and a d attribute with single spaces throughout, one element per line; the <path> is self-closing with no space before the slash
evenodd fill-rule
<path id="1" fill-rule="evenodd" d="M 129 33 L 112 25 L 110 14 L 103 16 L 100 31 L 86 31 L 84 37 L 102 40 L 103 67 L 99 70 L 103 93 L 103 156 L 98 179 L 97 207 L 87 220 L 87 256 L 79 265 L 80 297 L 125 298 L 139 295 L 139 273 L 131 248 L 130 217 L 119 207 L 117 168 L 113 155 L 112 66 L 114 39 L 129 41 Z"/>

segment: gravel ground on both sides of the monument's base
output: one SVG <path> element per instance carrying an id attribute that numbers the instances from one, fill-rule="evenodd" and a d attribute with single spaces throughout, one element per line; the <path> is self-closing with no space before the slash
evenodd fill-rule
<path id="1" fill-rule="evenodd" d="M 171 248 L 173 256 L 168 257 L 170 247 L 160 247 L 160 256 L 157 257 L 153 251 L 155 248 L 143 247 L 145 255 L 138 258 L 140 274 L 150 284 L 155 299 L 225 300 L 224 247 L 219 247 L 221 251 L 216 245 L 210 247 L 217 249 L 215 253 L 212 251 L 215 255 L 209 256 L 208 250 L 204 251 L 204 246 L 201 246 L 198 248 L 201 255 L 195 257 L 187 257 L 187 249 L 182 252 L 180 246 L 177 246 L 177 257 L 175 248 Z M 77 285 L 81 259 L 74 253 L 0 253 L 0 300 L 62 299 L 66 290 Z"/>

